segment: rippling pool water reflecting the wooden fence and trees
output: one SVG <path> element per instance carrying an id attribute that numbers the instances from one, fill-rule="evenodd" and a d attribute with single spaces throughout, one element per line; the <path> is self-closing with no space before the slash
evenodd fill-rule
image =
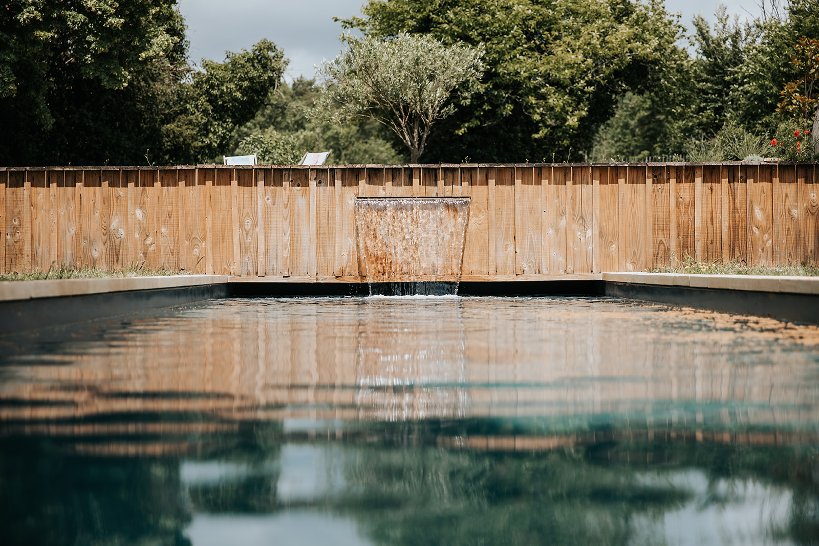
<path id="1" fill-rule="evenodd" d="M 819 328 L 214 300 L 0 335 L 3 544 L 816 544 Z"/>

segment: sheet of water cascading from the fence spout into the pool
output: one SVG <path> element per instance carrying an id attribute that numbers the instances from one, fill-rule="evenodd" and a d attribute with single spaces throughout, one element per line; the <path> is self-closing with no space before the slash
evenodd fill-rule
<path id="1" fill-rule="evenodd" d="M 468 213 L 468 197 L 357 198 L 359 271 L 370 295 L 457 293 Z"/>

